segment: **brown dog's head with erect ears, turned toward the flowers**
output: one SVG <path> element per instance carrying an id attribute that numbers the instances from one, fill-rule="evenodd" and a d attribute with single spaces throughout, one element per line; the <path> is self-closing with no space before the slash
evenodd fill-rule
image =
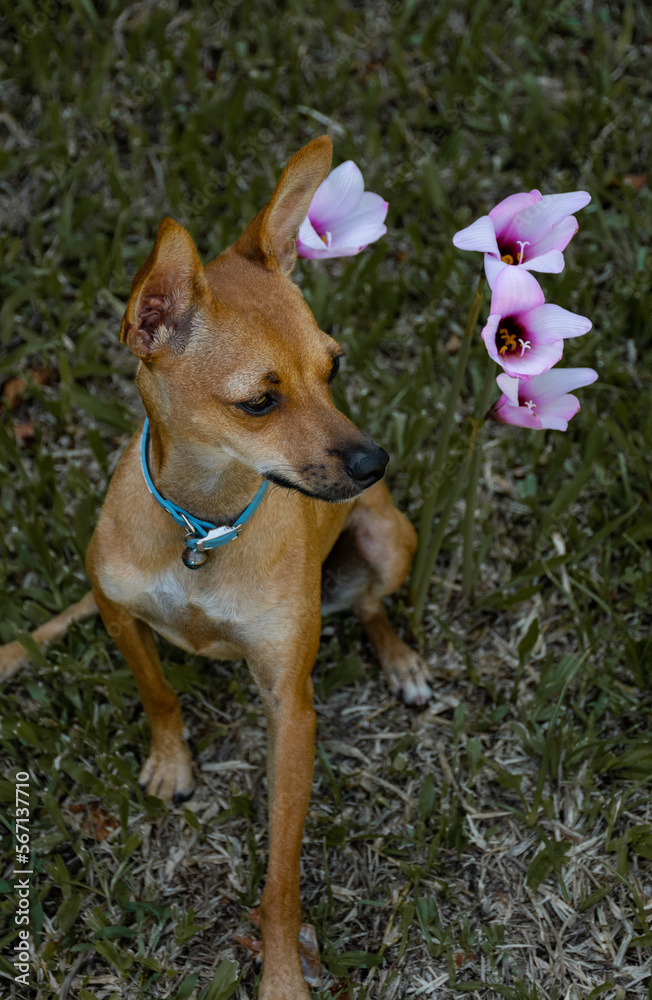
<path id="1" fill-rule="evenodd" d="M 388 456 L 334 406 L 342 353 L 289 275 L 296 236 L 331 162 L 313 140 L 269 203 L 207 267 L 172 219 L 134 279 L 120 339 L 141 359 L 138 386 L 162 433 L 221 452 L 282 486 L 347 500 Z"/>

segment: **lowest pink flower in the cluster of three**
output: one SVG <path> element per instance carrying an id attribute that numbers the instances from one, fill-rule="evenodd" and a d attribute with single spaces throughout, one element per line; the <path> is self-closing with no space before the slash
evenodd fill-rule
<path id="1" fill-rule="evenodd" d="M 565 431 L 580 408 L 577 397 L 569 395 L 569 390 L 590 385 L 597 377 L 592 368 L 556 368 L 528 382 L 503 373 L 496 379 L 503 395 L 493 406 L 491 416 L 501 424 Z"/>

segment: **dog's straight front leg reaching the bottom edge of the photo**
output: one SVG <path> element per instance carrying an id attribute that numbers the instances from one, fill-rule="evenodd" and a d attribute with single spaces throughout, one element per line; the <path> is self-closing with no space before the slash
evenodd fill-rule
<path id="1" fill-rule="evenodd" d="M 269 864 L 260 904 L 260 1000 L 308 1000 L 310 996 L 299 960 L 299 877 L 315 753 L 310 672 L 319 645 L 319 615 L 310 626 L 304 622 L 288 645 L 289 649 L 287 645 L 268 647 L 264 658 L 250 660 L 265 707 L 268 740 Z"/>

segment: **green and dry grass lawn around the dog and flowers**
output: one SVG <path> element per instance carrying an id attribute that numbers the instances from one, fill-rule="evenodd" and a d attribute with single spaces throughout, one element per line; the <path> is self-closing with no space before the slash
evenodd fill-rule
<path id="1" fill-rule="evenodd" d="M 434 704 L 417 716 L 396 704 L 357 623 L 324 623 L 304 919 L 322 998 L 652 996 L 648 6 L 0 10 L 2 641 L 87 588 L 84 550 L 141 413 L 118 324 L 164 214 L 208 260 L 308 139 L 328 131 L 336 162 L 360 164 L 389 200 L 388 236 L 358 258 L 305 262 L 297 279 L 347 352 L 338 404 L 391 452 L 394 495 L 418 523 L 479 269 L 453 232 L 513 191 L 591 192 L 566 269 L 545 284 L 593 319 L 566 358 L 600 381 L 565 435 L 490 428 L 474 603 L 464 504 L 450 493 L 482 384 L 479 338 L 471 355 L 437 480 L 453 516 L 417 637 Z M 265 870 L 260 703 L 244 664 L 162 649 L 200 766 L 185 807 L 136 786 L 147 726 L 98 621 L 2 691 L 11 997 L 257 994 L 234 934 L 256 936 L 247 910 Z M 35 863 L 26 990 L 9 962 L 22 769 Z"/>

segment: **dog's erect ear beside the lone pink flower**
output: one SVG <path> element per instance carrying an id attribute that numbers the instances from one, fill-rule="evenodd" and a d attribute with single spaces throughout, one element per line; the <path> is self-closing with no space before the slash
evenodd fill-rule
<path id="1" fill-rule="evenodd" d="M 297 256 L 297 233 L 333 156 L 327 135 L 313 139 L 292 157 L 265 208 L 233 244 L 234 250 L 273 271 L 289 274 Z"/>

